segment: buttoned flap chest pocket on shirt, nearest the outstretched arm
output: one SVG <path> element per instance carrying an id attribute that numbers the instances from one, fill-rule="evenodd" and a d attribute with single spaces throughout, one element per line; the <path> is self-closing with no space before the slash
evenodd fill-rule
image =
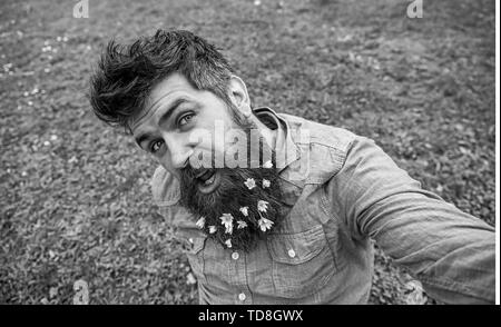
<path id="1" fill-rule="evenodd" d="M 322 226 L 267 239 L 275 295 L 301 298 L 322 289 L 335 272 L 334 257 Z"/>

